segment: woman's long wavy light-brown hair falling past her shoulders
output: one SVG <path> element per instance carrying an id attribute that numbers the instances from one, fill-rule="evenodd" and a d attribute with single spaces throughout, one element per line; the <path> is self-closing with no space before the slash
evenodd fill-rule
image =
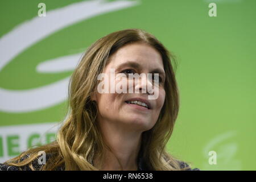
<path id="1" fill-rule="evenodd" d="M 155 126 L 142 134 L 140 154 L 150 170 L 180 170 L 179 160 L 166 151 L 179 111 L 179 90 L 174 72 L 176 60 L 155 36 L 141 29 L 116 31 L 92 44 L 69 82 L 68 115 L 57 133 L 56 141 L 27 150 L 5 164 L 18 167 L 29 164 L 33 170 L 31 162 L 37 159 L 39 151 L 45 151 L 52 157 L 42 165 L 41 170 L 54 170 L 59 166 L 64 166 L 65 170 L 98 170 L 92 165 L 93 159 L 96 156 L 102 159 L 102 151 L 108 146 L 97 125 L 96 104 L 90 97 L 97 88 L 97 76 L 103 72 L 109 57 L 119 48 L 135 42 L 154 47 L 162 56 L 166 72 L 164 105 Z M 25 155 L 30 157 L 22 160 Z"/>

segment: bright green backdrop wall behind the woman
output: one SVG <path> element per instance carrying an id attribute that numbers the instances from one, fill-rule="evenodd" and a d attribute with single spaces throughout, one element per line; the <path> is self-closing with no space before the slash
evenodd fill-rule
<path id="1" fill-rule="evenodd" d="M 37 16 L 40 2 L 50 11 L 80 1 L 1 1 L 0 37 Z M 36 65 L 82 52 L 110 32 L 142 28 L 178 61 L 180 112 L 168 151 L 201 170 L 255 170 L 256 1 L 139 2 L 72 24 L 28 47 L 0 71 L 0 87 L 32 89 L 61 80 L 72 72 L 38 73 Z M 210 2 L 216 2 L 217 17 L 208 15 Z M 28 113 L 0 111 L 0 127 L 61 121 L 65 109 L 66 102 Z M 222 135 L 231 137 L 205 151 Z M 210 150 L 217 153 L 216 165 L 208 163 Z"/>

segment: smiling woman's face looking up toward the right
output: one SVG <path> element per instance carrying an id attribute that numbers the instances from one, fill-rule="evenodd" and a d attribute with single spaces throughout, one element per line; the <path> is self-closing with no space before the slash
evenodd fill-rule
<path id="1" fill-rule="evenodd" d="M 97 120 L 100 122 L 110 122 L 117 126 L 124 126 L 125 129 L 133 131 L 150 130 L 156 123 L 160 110 L 163 107 L 166 92 L 164 90 L 165 73 L 162 57 L 156 49 L 144 43 L 133 43 L 118 49 L 112 56 L 104 72 L 110 78 L 110 69 L 114 69 L 115 77 L 109 81 L 111 86 L 117 86 L 122 83 L 127 85 L 126 93 L 99 93 L 92 96 L 92 100 L 97 102 L 98 115 Z M 156 71 L 157 70 L 157 71 Z M 162 73 L 161 73 L 162 72 Z M 118 73 L 125 73 L 120 76 Z M 159 84 L 155 85 L 154 92 L 156 97 L 153 100 L 148 99 L 149 93 L 135 93 L 135 89 L 140 90 L 152 83 L 152 80 L 146 77 L 139 78 L 139 82 L 135 82 L 128 77 L 129 73 L 159 73 Z M 112 72 L 113 74 L 113 72 Z M 153 75 L 153 74 L 152 74 Z M 105 77 L 104 77 L 105 79 Z M 160 82 L 162 80 L 162 82 Z M 129 92 L 129 87 L 133 86 L 133 93 Z M 122 87 L 121 87 L 122 88 Z M 104 85 L 105 89 L 105 85 Z M 154 94 L 151 92 L 151 95 Z M 141 100 L 140 100 L 141 99 Z M 134 101 L 144 101 L 147 104 L 139 106 Z M 128 101 L 133 101 L 133 104 Z"/>

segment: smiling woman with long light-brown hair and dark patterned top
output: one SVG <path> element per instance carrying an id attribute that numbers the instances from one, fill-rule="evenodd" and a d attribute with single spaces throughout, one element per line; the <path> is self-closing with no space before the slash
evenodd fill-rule
<path id="1" fill-rule="evenodd" d="M 23 152 L 2 169 L 191 170 L 165 149 L 179 110 L 171 61 L 175 64 L 167 49 L 143 30 L 117 31 L 97 40 L 73 72 L 68 119 L 57 140 Z M 139 93 L 100 92 L 102 73 L 107 91 L 121 82 L 122 90 L 128 85 Z M 112 73 L 117 76 L 107 79 Z M 130 77 L 136 73 L 151 73 L 151 79 L 136 82 Z M 46 164 L 38 164 L 40 151 L 47 154 Z"/>

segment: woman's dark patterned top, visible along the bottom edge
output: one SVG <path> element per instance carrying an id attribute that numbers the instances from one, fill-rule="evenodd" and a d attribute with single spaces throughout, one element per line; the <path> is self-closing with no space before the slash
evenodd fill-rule
<path id="1" fill-rule="evenodd" d="M 29 155 L 27 155 L 27 157 L 28 156 Z M 46 160 L 47 159 L 49 159 L 49 155 L 46 155 Z M 188 164 L 185 163 L 185 162 L 179 162 L 179 163 L 180 163 L 181 168 L 188 167 Z M 33 160 L 32 161 L 32 166 L 37 171 L 40 170 L 42 165 L 43 164 L 39 164 L 38 160 Z M 23 166 L 23 167 L 16 167 L 16 166 L 9 166 L 7 164 L 1 164 L 0 163 L 0 171 L 20 171 L 20 170 L 21 171 L 32 171 L 31 168 L 28 165 Z M 56 171 L 64 171 L 64 170 L 65 170 L 65 166 L 61 166 L 61 167 L 56 168 Z M 148 171 L 146 163 L 143 162 L 142 158 L 138 159 L 138 171 Z M 187 169 L 187 171 L 200 171 L 200 169 L 199 168 L 194 168 L 194 169 L 189 168 L 189 169 Z"/>

